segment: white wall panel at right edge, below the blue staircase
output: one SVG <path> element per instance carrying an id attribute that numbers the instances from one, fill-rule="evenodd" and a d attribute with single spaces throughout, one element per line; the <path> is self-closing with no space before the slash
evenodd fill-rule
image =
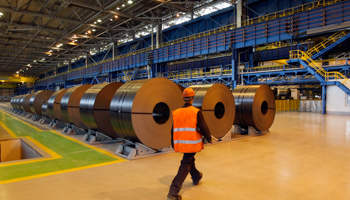
<path id="1" fill-rule="evenodd" d="M 326 110 L 327 114 L 350 115 L 350 105 L 347 105 L 347 96 L 338 86 L 327 86 Z"/>

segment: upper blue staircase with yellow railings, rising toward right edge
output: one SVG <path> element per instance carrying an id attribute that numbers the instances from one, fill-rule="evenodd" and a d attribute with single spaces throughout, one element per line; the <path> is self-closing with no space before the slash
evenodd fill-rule
<path id="1" fill-rule="evenodd" d="M 338 31 L 330 37 L 328 37 L 327 39 L 318 43 L 316 46 L 309 49 L 306 52 L 306 54 L 315 60 L 316 58 L 320 57 L 332 48 L 338 46 L 340 43 L 344 42 L 348 38 L 350 38 L 350 32 L 348 33 L 347 31 Z"/>

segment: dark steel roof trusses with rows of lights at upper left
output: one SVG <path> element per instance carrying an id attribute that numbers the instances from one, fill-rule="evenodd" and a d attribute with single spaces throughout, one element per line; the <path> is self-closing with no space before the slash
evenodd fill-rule
<path id="1" fill-rule="evenodd" d="M 45 51 L 39 50 L 31 59 L 45 58 L 45 65 L 59 63 L 62 58 L 71 59 L 72 52 L 89 52 L 92 47 L 115 43 L 125 34 L 132 35 L 146 25 L 173 19 L 178 12 L 193 12 L 194 7 L 216 2 L 219 0 L 134 0 L 132 4 L 124 0 L 0 1 L 0 12 L 3 13 L 0 16 L 0 48 L 4 49 L 0 51 L 0 57 L 8 58 L 1 62 L 0 73 L 13 74 L 23 69 L 25 64 L 18 58 L 31 54 L 33 47 Z M 117 19 L 114 18 L 116 15 Z M 59 44 L 63 45 L 58 47 Z M 9 55 L 7 49 L 17 51 Z M 49 54 L 49 50 L 53 52 Z M 30 73 L 41 71 L 41 65 L 32 63 Z"/>

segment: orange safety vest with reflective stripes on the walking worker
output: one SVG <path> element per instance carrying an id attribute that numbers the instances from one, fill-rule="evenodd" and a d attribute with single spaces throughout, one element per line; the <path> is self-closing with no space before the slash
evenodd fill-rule
<path id="1" fill-rule="evenodd" d="M 195 153 L 203 149 L 202 135 L 197 131 L 199 109 L 193 106 L 173 111 L 174 150 L 182 153 Z"/>

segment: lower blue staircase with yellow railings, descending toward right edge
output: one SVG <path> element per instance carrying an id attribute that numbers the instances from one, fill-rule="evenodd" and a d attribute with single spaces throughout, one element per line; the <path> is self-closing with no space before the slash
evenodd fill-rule
<path id="1" fill-rule="evenodd" d="M 300 63 L 321 83 L 325 85 L 337 85 L 346 94 L 350 95 L 350 80 L 340 72 L 327 72 L 307 52 L 301 50 L 290 51 L 289 62 Z"/>

